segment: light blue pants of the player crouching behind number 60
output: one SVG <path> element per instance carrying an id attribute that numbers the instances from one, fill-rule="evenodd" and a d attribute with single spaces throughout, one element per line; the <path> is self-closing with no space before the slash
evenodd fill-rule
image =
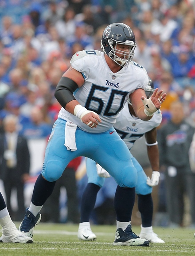
<path id="1" fill-rule="evenodd" d="M 136 194 L 148 195 L 148 194 L 152 193 L 152 187 L 150 187 L 146 184 L 147 176 L 146 176 L 143 168 L 140 166 L 139 162 L 136 160 L 136 158 L 133 157 L 132 154 L 131 154 L 131 157 L 132 157 L 131 159 L 132 159 L 133 165 L 134 165 L 134 167 L 136 167 L 136 170 L 137 170 Z M 103 187 L 105 178 L 100 177 L 98 175 L 98 173 L 96 171 L 96 162 L 94 162 L 90 158 L 87 158 L 86 159 L 86 170 L 87 170 L 87 176 L 88 176 L 88 183 L 94 183 L 94 184 L 98 185 L 99 187 Z M 109 179 L 109 178 L 106 178 L 106 179 Z"/>

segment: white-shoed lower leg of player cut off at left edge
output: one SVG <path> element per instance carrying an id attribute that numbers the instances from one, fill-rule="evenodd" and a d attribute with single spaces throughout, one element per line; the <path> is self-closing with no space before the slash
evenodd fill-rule
<path id="1" fill-rule="evenodd" d="M 0 192 L 0 225 L 2 227 L 2 236 L 0 243 L 22 243 L 30 244 L 33 242 L 31 237 L 26 236 L 19 230 L 10 218 L 3 195 Z"/>

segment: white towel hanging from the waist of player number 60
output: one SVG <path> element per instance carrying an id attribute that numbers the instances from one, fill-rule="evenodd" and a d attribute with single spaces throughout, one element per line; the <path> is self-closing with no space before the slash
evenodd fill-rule
<path id="1" fill-rule="evenodd" d="M 66 122 L 65 126 L 65 143 L 67 150 L 75 151 L 77 150 L 75 132 L 77 130 L 77 126 L 70 121 Z"/>

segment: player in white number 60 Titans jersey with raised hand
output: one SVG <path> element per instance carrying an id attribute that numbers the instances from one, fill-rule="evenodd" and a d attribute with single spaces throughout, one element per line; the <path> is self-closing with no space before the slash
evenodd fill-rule
<path id="1" fill-rule="evenodd" d="M 70 68 L 55 90 L 61 104 L 48 140 L 42 173 L 35 182 L 30 207 L 20 224 L 20 231 L 33 235 L 41 219 L 40 210 L 51 195 L 55 181 L 67 164 L 78 156 L 99 163 L 116 180 L 117 232 L 114 245 L 148 246 L 149 241 L 131 229 L 137 171 L 125 142 L 114 130 L 118 113 L 130 98 L 136 116 L 148 121 L 158 111 L 166 93 L 158 88 L 147 99 L 146 70 L 133 62 L 136 47 L 132 29 L 113 23 L 103 32 L 101 48 L 74 54 Z M 106 157 L 102 157 L 102 155 Z"/>

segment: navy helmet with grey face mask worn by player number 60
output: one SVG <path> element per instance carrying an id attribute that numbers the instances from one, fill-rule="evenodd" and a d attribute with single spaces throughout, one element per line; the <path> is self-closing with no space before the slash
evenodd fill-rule
<path id="1" fill-rule="evenodd" d="M 131 46 L 129 52 L 116 49 L 117 44 Z M 124 23 L 113 23 L 105 28 L 101 38 L 101 49 L 118 65 L 125 67 L 132 61 L 136 48 L 135 35 L 132 29 Z M 116 55 L 122 54 L 123 57 Z"/>

